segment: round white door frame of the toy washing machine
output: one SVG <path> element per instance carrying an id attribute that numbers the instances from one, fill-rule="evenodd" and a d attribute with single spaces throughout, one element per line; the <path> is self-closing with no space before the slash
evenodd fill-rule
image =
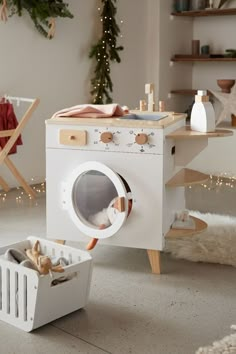
<path id="1" fill-rule="evenodd" d="M 109 227 L 107 227 L 106 229 L 99 230 L 96 226 L 91 227 L 89 222 L 85 224 L 85 222 L 79 218 L 74 208 L 74 203 L 73 203 L 74 184 L 80 176 L 84 175 L 89 171 L 98 171 L 104 174 L 106 177 L 108 177 L 110 181 L 113 183 L 114 187 L 116 188 L 118 194 L 117 197 L 124 198 L 125 201 L 124 211 L 119 212 L 117 214 L 115 222 Z M 84 162 L 72 171 L 66 184 L 67 184 L 67 188 L 65 191 L 66 204 L 67 204 L 66 209 L 71 219 L 73 220 L 74 224 L 78 227 L 78 231 L 81 231 L 85 235 L 90 236 L 92 238 L 105 239 L 114 236 L 122 228 L 122 226 L 124 225 L 128 217 L 128 195 L 122 179 L 111 168 L 97 161 Z"/>

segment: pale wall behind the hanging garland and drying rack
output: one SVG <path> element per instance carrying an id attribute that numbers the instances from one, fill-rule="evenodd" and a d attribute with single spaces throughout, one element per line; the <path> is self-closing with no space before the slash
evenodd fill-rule
<path id="1" fill-rule="evenodd" d="M 45 120 L 58 109 L 90 100 L 92 61 L 88 53 L 99 35 L 97 0 L 69 0 L 74 19 L 58 19 L 56 36 L 42 37 L 28 15 L 13 16 L 0 23 L 0 94 L 39 97 L 40 106 L 24 130 L 24 145 L 12 160 L 27 181 L 45 178 Z M 119 0 L 118 20 L 125 46 L 121 64 L 114 65 L 114 101 L 131 108 L 144 94 L 147 77 L 148 13 L 154 0 Z M 145 48 L 145 50 L 144 50 Z M 26 106 L 21 105 L 23 113 Z M 20 111 L 15 112 L 20 118 Z M 15 179 L 1 166 L 1 175 L 11 186 Z"/>

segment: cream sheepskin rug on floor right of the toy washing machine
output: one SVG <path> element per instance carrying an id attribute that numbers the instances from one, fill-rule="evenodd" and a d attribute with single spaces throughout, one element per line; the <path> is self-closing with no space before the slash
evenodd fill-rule
<path id="1" fill-rule="evenodd" d="M 193 262 L 227 264 L 236 267 L 236 217 L 190 211 L 208 224 L 199 234 L 167 239 L 165 252 Z"/>

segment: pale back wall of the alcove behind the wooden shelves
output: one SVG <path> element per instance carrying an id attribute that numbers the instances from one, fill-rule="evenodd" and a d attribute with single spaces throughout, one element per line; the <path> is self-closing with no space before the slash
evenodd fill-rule
<path id="1" fill-rule="evenodd" d="M 236 7 L 236 1 L 229 2 Z M 194 20 L 194 39 L 200 39 L 201 45 L 209 44 L 213 53 L 222 53 L 225 49 L 236 48 L 235 16 L 206 17 Z M 217 79 L 236 79 L 236 63 L 195 63 L 193 66 L 193 88 L 219 91 Z M 216 115 L 221 105 L 215 103 Z M 230 120 L 230 117 L 227 117 Z M 229 126 L 230 128 L 230 126 Z M 190 168 L 203 172 L 236 175 L 235 145 L 236 134 L 230 138 L 209 139 L 208 147 L 198 155 Z"/>

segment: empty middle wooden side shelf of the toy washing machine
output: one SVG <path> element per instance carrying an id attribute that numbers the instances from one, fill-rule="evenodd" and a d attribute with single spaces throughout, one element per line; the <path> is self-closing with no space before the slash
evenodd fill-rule
<path id="1" fill-rule="evenodd" d="M 205 173 L 183 168 L 167 183 L 167 187 L 185 187 L 193 184 L 204 183 L 209 179 Z"/>

